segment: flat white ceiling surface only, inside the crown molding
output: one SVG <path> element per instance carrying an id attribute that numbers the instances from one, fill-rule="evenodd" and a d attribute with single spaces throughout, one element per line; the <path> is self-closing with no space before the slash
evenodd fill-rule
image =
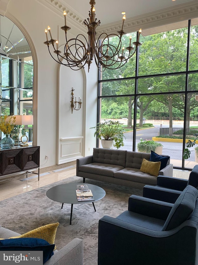
<path id="1" fill-rule="evenodd" d="M 52 1 L 53 2 L 53 1 Z M 64 0 L 66 10 L 73 9 L 82 18 L 88 17 L 90 10 L 89 0 Z M 126 12 L 126 18 L 132 18 L 154 11 L 172 8 L 184 3 L 195 2 L 194 0 L 95 0 L 96 17 L 101 25 L 116 21 L 122 21 L 122 11 Z"/>

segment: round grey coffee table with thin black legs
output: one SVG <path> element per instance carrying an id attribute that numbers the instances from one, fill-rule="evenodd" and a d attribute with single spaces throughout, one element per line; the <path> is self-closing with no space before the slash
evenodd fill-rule
<path id="1" fill-rule="evenodd" d="M 96 208 L 94 205 L 94 201 L 99 201 L 100 199 L 105 197 L 105 190 L 101 187 L 98 187 L 93 184 L 88 184 L 89 189 L 92 191 L 94 201 L 81 201 L 78 202 L 76 197 L 76 185 L 84 184 L 84 183 L 66 183 L 52 187 L 46 192 L 46 195 L 49 199 L 62 203 L 62 207 L 64 203 L 71 204 L 71 214 L 70 214 L 70 225 L 71 225 L 71 218 L 72 218 L 72 210 L 73 204 L 82 204 L 82 203 L 93 203 L 93 208 L 96 212 Z M 62 209 L 61 207 L 61 209 Z"/>

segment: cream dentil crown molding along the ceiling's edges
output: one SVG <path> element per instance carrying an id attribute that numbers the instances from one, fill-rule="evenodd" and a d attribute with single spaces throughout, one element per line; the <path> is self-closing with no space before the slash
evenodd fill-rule
<path id="1" fill-rule="evenodd" d="M 72 9 L 71 6 L 67 5 L 66 7 L 64 2 L 57 0 L 39 0 L 39 2 L 44 4 L 46 7 L 49 7 L 60 16 L 63 16 L 63 11 L 66 10 L 67 20 L 83 34 L 87 34 L 87 28 L 83 23 L 85 17 L 82 17 L 80 13 Z M 124 31 L 126 33 L 131 33 L 138 31 L 140 28 L 144 30 L 196 17 L 198 17 L 198 0 L 133 18 L 128 18 L 124 24 Z M 107 34 L 115 34 L 118 30 L 120 30 L 121 26 L 122 21 L 117 21 L 102 26 L 100 25 L 97 27 L 97 36 L 103 32 Z"/>

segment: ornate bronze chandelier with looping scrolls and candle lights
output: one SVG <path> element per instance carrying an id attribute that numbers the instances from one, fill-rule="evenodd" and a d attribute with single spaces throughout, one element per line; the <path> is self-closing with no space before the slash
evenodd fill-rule
<path id="1" fill-rule="evenodd" d="M 79 70 L 88 64 L 88 72 L 90 64 L 93 61 L 93 58 L 96 62 L 98 69 L 100 66 L 103 69 L 118 69 L 122 67 L 135 53 L 137 47 L 142 45 L 139 42 L 141 29 L 138 32 L 136 42 L 133 42 L 131 46 L 131 37 L 129 38 L 129 46 L 126 47 L 127 52 L 124 52 L 124 47 L 122 46 L 122 36 L 126 34 L 123 31 L 124 22 L 126 16 L 123 16 L 122 29 L 117 31 L 118 34 L 106 34 L 102 33 L 96 39 L 96 28 L 100 25 L 100 20 L 95 18 L 95 7 L 96 2 L 90 0 L 91 11 L 89 11 L 89 17 L 84 20 L 84 24 L 88 28 L 88 35 L 85 37 L 82 34 L 79 34 L 76 38 L 67 40 L 67 31 L 71 28 L 67 26 L 66 23 L 66 11 L 63 12 L 65 17 L 65 25 L 61 27 L 65 31 L 66 44 L 64 46 L 64 54 L 61 55 L 61 51 L 58 50 L 58 40 L 52 38 L 51 29 L 48 26 L 48 31 L 50 34 L 50 40 L 48 40 L 47 30 L 45 29 L 46 41 L 44 44 L 48 46 L 49 53 L 51 57 L 58 63 L 69 66 L 73 70 Z M 118 38 L 117 46 L 114 46 L 110 43 L 110 37 Z M 101 40 L 101 41 L 100 41 Z M 56 43 L 56 45 L 55 45 Z M 50 52 L 50 44 L 53 47 L 55 54 Z M 53 56 L 54 55 L 54 56 Z"/>

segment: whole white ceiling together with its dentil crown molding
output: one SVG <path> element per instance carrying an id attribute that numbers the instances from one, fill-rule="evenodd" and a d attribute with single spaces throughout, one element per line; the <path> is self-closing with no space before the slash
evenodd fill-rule
<path id="1" fill-rule="evenodd" d="M 67 22 L 71 27 L 70 33 L 73 35 L 79 34 L 79 31 L 82 34 L 87 33 L 84 19 L 88 18 L 91 10 L 89 1 L 39 0 L 62 18 L 63 11 L 66 10 Z M 124 31 L 131 33 L 141 28 L 143 35 L 144 30 L 198 17 L 198 0 L 95 0 L 95 2 L 95 17 L 101 21 L 100 26 L 97 27 L 97 36 L 101 36 L 103 32 L 116 34 L 121 30 L 123 11 L 126 12 Z M 46 23 L 50 24 L 50 21 Z M 177 28 L 179 28 L 178 25 Z M 166 30 L 170 29 L 162 29 L 162 31 Z M 150 31 L 149 34 L 151 34 Z"/>

